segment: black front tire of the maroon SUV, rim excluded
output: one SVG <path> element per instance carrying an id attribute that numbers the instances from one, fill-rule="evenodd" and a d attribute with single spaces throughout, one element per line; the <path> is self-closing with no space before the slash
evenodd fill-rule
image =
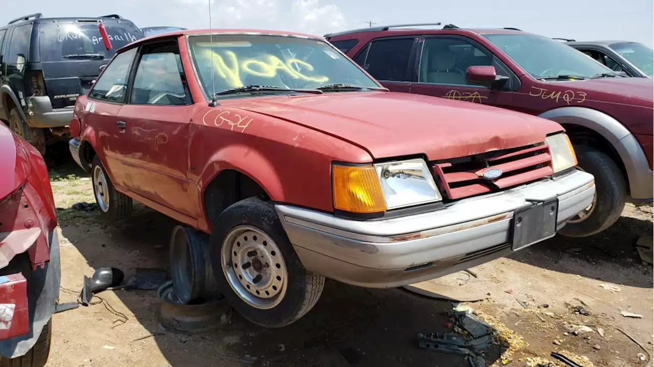
<path id="1" fill-rule="evenodd" d="M 590 146 L 574 146 L 579 167 L 595 176 L 596 203 L 579 223 L 568 222 L 559 231 L 566 237 L 587 237 L 608 229 L 619 219 L 627 200 L 627 183 L 618 165 Z"/>

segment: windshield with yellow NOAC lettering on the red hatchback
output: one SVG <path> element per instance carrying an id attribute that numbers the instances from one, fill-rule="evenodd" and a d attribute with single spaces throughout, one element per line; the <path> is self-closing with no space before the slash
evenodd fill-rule
<path id="1" fill-rule="evenodd" d="M 381 88 L 353 61 L 321 40 L 272 35 L 215 35 L 212 40 L 202 35 L 189 37 L 189 44 L 209 97 L 244 86 L 313 89 L 348 84 Z"/>

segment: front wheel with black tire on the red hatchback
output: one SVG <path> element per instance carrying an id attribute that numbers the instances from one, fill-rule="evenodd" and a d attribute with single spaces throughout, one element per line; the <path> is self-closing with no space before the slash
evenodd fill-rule
<path id="1" fill-rule="evenodd" d="M 324 277 L 307 272 L 269 202 L 250 198 L 213 225 L 211 260 L 220 290 L 243 317 L 263 327 L 294 323 L 318 302 Z"/>

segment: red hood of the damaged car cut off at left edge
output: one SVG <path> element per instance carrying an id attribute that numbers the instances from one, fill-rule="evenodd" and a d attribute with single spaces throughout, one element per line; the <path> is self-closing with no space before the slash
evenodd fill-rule
<path id="1" fill-rule="evenodd" d="M 0 126 L 0 172 L 3 173 L 0 180 L 0 200 L 16 191 L 29 174 L 29 161 L 25 150 L 4 124 Z"/>

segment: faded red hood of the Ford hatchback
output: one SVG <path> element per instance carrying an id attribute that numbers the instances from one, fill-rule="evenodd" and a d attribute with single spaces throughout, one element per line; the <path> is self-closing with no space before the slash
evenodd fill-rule
<path id="1" fill-rule="evenodd" d="M 373 158 L 425 153 L 464 157 L 545 140 L 553 121 L 470 102 L 394 92 L 325 93 L 240 101 L 273 116 L 356 144 Z"/>

